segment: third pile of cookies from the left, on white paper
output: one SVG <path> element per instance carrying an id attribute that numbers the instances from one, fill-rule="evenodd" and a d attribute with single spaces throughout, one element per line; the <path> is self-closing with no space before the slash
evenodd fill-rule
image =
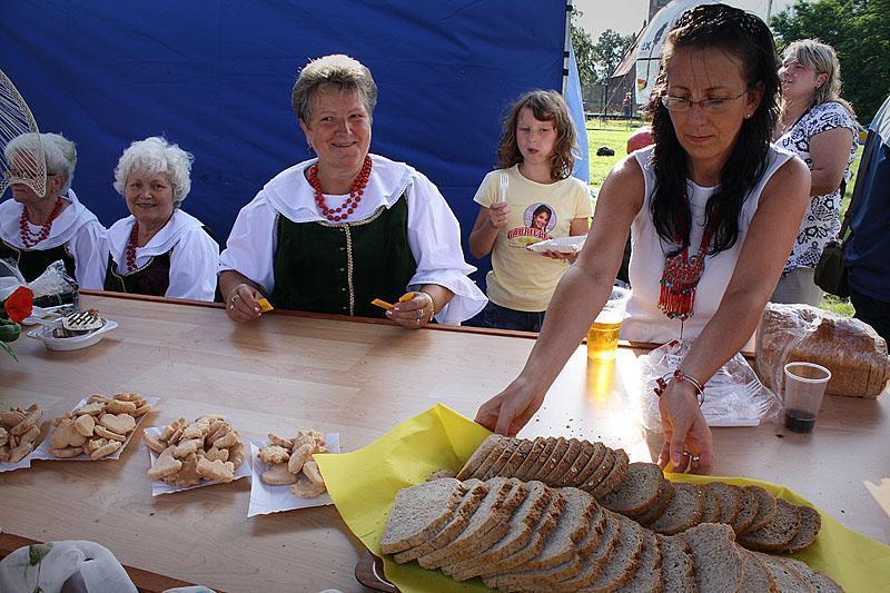
<path id="1" fill-rule="evenodd" d="M 142 435 L 146 446 L 158 454 L 149 480 L 189 487 L 201 480 L 231 482 L 244 463 L 244 445 L 225 416 L 205 414 L 189 423 L 178 418 L 160 436 Z"/>

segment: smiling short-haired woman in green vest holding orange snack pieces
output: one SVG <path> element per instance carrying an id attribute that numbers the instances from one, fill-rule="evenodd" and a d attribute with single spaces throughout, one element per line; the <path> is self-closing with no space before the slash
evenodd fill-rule
<path id="1" fill-rule="evenodd" d="M 318 158 L 277 175 L 238 215 L 219 267 L 234 320 L 259 317 L 264 296 L 285 309 L 358 316 L 382 315 L 372 305 L 379 298 L 408 328 L 459 324 L 485 306 L 436 186 L 368 152 L 376 101 L 370 71 L 347 56 L 300 71 L 291 103 Z"/>

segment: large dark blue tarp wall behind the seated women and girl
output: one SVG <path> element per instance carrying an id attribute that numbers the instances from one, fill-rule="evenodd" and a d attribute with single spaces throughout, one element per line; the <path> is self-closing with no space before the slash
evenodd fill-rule
<path id="1" fill-rule="evenodd" d="M 41 131 L 77 142 L 73 188 L 106 226 L 128 214 L 111 187 L 121 151 L 164 135 L 195 155 L 184 209 L 222 244 L 241 206 L 310 156 L 290 110 L 298 69 L 348 53 L 379 88 L 372 150 L 438 185 L 466 239 L 510 102 L 562 89 L 565 11 L 565 0 L 9 1 L 0 68 Z"/>

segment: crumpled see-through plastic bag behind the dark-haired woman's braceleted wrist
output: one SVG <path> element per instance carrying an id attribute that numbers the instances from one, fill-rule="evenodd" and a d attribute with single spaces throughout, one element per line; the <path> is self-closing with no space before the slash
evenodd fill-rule
<path id="1" fill-rule="evenodd" d="M 641 357 L 643 424 L 662 432 L 656 380 L 681 366 L 692 340 L 675 339 Z M 779 398 L 763 386 L 741 354 L 724 364 L 704 385 L 702 414 L 709 426 L 756 426 L 781 412 Z"/>

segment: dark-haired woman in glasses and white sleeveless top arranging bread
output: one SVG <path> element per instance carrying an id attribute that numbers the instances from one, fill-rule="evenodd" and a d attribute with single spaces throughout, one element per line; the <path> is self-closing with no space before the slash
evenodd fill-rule
<path id="1" fill-rule="evenodd" d="M 479 408 L 477 422 L 515 434 L 534 415 L 606 302 L 630 229 L 633 296 L 623 337 L 664 343 L 685 325 L 694 338 L 660 384 L 660 463 L 711 472 L 702 386 L 751 339 L 810 187 L 807 166 L 770 144 L 777 61 L 770 30 L 752 14 L 704 4 L 680 17 L 649 105 L 654 147 L 609 175 L 590 238 L 556 289 L 525 368 Z"/>

